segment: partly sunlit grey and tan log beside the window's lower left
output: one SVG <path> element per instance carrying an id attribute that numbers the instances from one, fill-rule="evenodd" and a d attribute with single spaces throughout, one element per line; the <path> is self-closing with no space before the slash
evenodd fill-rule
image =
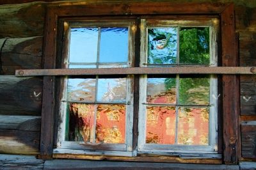
<path id="1" fill-rule="evenodd" d="M 0 153 L 38 153 L 40 116 L 0 116 L 0 119 Z"/>

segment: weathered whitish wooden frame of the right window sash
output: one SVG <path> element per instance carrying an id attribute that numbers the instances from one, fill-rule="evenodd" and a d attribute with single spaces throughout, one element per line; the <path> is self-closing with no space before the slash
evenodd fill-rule
<path id="1" fill-rule="evenodd" d="M 197 20 L 196 20 L 197 19 Z M 141 68 L 147 68 L 147 67 L 153 67 L 154 65 L 148 65 L 148 38 L 147 38 L 147 29 L 153 28 L 153 27 L 209 27 L 209 33 L 210 33 L 210 60 L 208 65 L 203 65 L 205 67 L 215 67 L 218 66 L 218 33 L 219 33 L 219 19 L 214 17 L 206 17 L 206 18 L 195 18 L 191 17 L 190 19 L 182 19 L 181 17 L 179 19 L 159 19 L 157 18 L 148 18 L 148 19 L 141 19 L 141 48 L 140 48 L 140 67 Z M 178 33 L 179 34 L 179 31 Z M 179 37 L 179 36 L 178 36 Z M 178 38 L 178 44 L 179 44 L 179 38 Z M 193 66 L 194 68 L 196 64 L 182 64 L 179 63 L 179 45 L 177 45 L 177 63 L 173 64 L 172 66 Z M 170 65 L 161 65 L 163 68 L 170 68 Z M 202 66 L 202 65 L 201 65 Z M 179 76 L 179 74 L 177 74 Z M 175 76 L 177 76 L 175 75 Z M 175 77 L 175 79 L 179 79 Z M 154 143 L 146 143 L 145 142 L 145 125 L 146 125 L 146 89 L 147 89 L 147 75 L 141 75 L 140 76 L 140 111 L 139 111 L 139 123 L 138 123 L 138 130 L 139 130 L 139 137 L 138 137 L 138 153 L 148 153 L 148 154 L 154 154 L 163 152 L 164 154 L 168 155 L 168 153 L 171 155 L 173 153 L 179 153 L 179 155 L 183 155 L 184 153 L 191 153 L 193 154 L 207 154 L 212 153 L 216 154 L 214 157 L 218 157 L 218 78 L 216 75 L 209 74 L 209 81 L 210 81 L 210 96 L 209 100 L 211 100 L 209 106 L 209 145 L 199 145 L 199 144 L 189 144 L 189 145 L 182 145 L 182 144 L 154 144 Z M 179 85 L 177 85 L 179 86 Z M 177 87 L 176 87 L 177 88 Z M 179 94 L 179 88 L 176 89 L 177 93 Z M 177 95 L 179 98 L 179 95 Z M 214 97 L 212 97 L 214 96 Z M 176 107 L 176 115 L 178 115 L 178 108 L 179 108 L 179 99 L 177 99 L 176 104 L 172 104 L 173 107 Z M 158 105 L 158 104 L 154 104 Z M 161 105 L 161 104 L 159 104 Z M 168 104 L 164 104 L 165 106 L 171 106 Z M 163 106 L 163 105 L 162 105 Z M 187 107 L 192 107 L 191 105 L 187 105 Z M 176 118 L 176 121 L 178 118 Z M 178 130 L 178 127 L 176 127 L 176 130 Z M 177 132 L 175 132 L 177 142 Z M 219 157 L 221 158 L 220 154 Z"/>

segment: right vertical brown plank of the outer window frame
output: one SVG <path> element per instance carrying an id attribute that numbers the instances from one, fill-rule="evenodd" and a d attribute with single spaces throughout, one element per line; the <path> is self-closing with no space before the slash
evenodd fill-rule
<path id="1" fill-rule="evenodd" d="M 222 66 L 237 66 L 234 4 L 221 13 Z M 237 164 L 239 150 L 239 79 L 223 75 L 223 160 Z"/>

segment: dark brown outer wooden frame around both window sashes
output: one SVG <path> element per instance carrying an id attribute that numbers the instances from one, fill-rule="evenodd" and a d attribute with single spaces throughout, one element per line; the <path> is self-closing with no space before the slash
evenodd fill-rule
<path id="1" fill-rule="evenodd" d="M 157 9 L 157 10 L 156 10 Z M 221 65 L 237 66 L 234 4 L 220 3 L 97 3 L 48 6 L 44 35 L 44 68 L 56 68 L 58 20 L 61 17 L 117 15 L 220 15 Z M 52 158 L 56 77 L 44 77 L 40 158 Z M 222 76 L 223 162 L 237 164 L 239 141 L 239 77 Z M 220 133 L 221 134 L 221 133 Z M 110 158 L 111 159 L 111 158 Z M 118 160 L 118 159 L 116 159 Z M 152 161 L 143 158 L 141 161 Z M 218 161 L 220 163 L 220 161 Z"/>

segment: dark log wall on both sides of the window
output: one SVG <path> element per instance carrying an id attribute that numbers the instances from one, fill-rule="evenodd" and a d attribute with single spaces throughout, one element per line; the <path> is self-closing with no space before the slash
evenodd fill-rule
<path id="1" fill-rule="evenodd" d="M 94 2 L 104 1 L 86 1 L 86 3 Z M 218 0 L 218 2 L 230 1 Z M 239 65 L 256 66 L 256 1 L 233 2 L 236 10 L 236 32 L 239 35 Z M 45 9 L 48 5 L 74 3 L 85 2 L 29 0 L 0 2 L 0 153 L 38 153 L 42 78 L 18 78 L 14 76 L 14 72 L 15 69 L 20 68 L 42 68 Z M 241 75 L 240 83 L 241 160 L 243 158 L 254 160 L 256 158 L 256 75 Z"/>

